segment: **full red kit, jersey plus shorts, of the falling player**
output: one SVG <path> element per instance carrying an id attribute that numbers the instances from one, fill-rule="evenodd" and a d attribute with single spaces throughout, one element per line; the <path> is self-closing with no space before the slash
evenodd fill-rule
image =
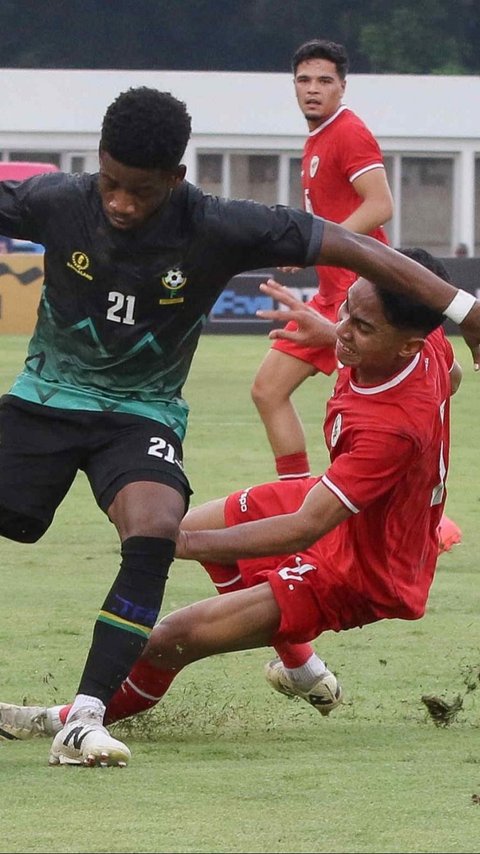
<path id="1" fill-rule="evenodd" d="M 238 561 L 246 586 L 272 587 L 281 611 L 274 642 L 424 614 L 446 499 L 453 361 L 440 328 L 382 385 L 358 385 L 343 368 L 327 404 L 322 477 L 228 497 L 227 526 L 293 513 L 319 480 L 352 512 L 301 553 Z"/>

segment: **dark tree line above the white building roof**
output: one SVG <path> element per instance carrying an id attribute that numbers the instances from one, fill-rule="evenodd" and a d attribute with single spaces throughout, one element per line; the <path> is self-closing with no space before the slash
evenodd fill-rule
<path id="1" fill-rule="evenodd" d="M 3 68 L 289 71 L 303 41 L 350 71 L 478 74 L 479 0 L 1 0 Z"/>

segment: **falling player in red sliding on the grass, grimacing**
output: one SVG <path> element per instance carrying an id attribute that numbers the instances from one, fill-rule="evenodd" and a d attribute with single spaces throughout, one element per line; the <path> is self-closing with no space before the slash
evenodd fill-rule
<path id="1" fill-rule="evenodd" d="M 294 319 L 313 316 L 292 306 Z M 328 321 L 315 321 L 325 339 Z M 367 279 L 350 287 L 330 325 L 344 365 L 324 422 L 330 465 L 318 478 L 254 486 L 191 511 L 177 554 L 235 567 L 247 589 L 161 620 L 151 663 L 178 668 L 424 614 L 446 499 L 449 399 L 461 378 L 441 321 Z M 275 661 L 267 675 L 320 711 L 341 696 L 324 665 L 311 673 Z"/>

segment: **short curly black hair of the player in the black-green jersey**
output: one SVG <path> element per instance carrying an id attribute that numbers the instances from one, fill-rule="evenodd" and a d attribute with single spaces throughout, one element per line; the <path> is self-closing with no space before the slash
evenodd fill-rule
<path id="1" fill-rule="evenodd" d="M 186 105 L 148 86 L 121 92 L 107 108 L 100 151 L 125 166 L 173 172 L 192 130 Z"/>

